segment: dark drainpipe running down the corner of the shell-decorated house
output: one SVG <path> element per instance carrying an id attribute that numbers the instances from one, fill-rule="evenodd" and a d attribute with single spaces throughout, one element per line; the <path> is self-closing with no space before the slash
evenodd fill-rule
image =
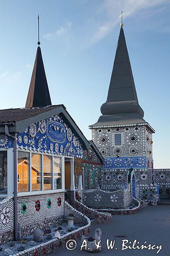
<path id="1" fill-rule="evenodd" d="M 13 156 L 14 156 L 14 237 L 15 241 L 18 239 L 18 218 L 17 218 L 17 150 L 16 150 L 16 138 L 9 134 L 8 125 L 5 124 L 5 134 L 14 140 L 13 144 Z"/>

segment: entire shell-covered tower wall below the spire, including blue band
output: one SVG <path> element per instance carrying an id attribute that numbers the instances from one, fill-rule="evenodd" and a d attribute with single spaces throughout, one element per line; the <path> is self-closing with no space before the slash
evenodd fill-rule
<path id="1" fill-rule="evenodd" d="M 122 146 L 114 146 L 114 134 L 117 133 L 122 134 Z M 150 184 L 153 141 L 152 133 L 145 125 L 93 127 L 92 140 L 106 160 L 102 167 L 102 189 L 112 191 L 127 187 L 131 167 L 138 185 Z"/>

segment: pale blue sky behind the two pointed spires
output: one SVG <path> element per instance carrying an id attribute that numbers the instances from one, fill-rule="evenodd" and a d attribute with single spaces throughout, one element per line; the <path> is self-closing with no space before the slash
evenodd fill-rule
<path id="1" fill-rule="evenodd" d="M 0 0 L 0 108 L 24 107 L 37 48 L 53 104 L 63 103 L 87 139 L 106 101 L 123 23 L 144 119 L 156 130 L 154 167 L 169 164 L 169 0 Z"/>

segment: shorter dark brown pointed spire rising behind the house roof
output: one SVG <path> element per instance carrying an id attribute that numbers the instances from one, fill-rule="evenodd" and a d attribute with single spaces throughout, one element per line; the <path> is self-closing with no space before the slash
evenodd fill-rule
<path id="1" fill-rule="evenodd" d="M 30 88 L 26 101 L 26 108 L 36 108 L 51 105 L 50 93 L 46 80 L 41 48 L 38 46 Z"/>

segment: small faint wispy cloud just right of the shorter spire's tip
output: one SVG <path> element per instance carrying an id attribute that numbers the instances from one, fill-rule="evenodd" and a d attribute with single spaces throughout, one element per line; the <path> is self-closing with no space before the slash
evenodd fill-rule
<path id="1" fill-rule="evenodd" d="M 61 26 L 55 32 L 47 33 L 46 35 L 43 35 L 43 37 L 47 40 L 54 40 L 56 39 L 56 37 L 67 35 L 71 27 L 72 27 L 72 23 L 68 22 L 68 20 L 65 20 L 65 26 Z"/>

